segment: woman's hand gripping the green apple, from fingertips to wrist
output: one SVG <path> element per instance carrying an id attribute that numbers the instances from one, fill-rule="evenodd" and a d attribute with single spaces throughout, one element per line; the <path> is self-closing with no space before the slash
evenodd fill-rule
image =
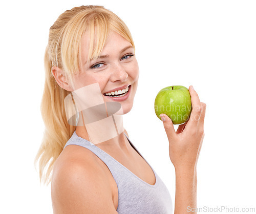
<path id="1" fill-rule="evenodd" d="M 204 116 L 206 104 L 200 102 L 197 92 L 189 87 L 192 111 L 189 120 L 179 125 L 175 132 L 172 120 L 161 114 L 164 129 L 169 140 L 169 156 L 175 169 L 189 170 L 196 168 L 204 138 Z"/>

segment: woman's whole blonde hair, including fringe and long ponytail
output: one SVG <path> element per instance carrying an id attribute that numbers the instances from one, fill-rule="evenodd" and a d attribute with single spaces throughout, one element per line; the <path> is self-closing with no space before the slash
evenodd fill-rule
<path id="1" fill-rule="evenodd" d="M 97 58 L 110 31 L 115 31 L 130 41 L 135 49 L 132 35 L 124 22 L 103 6 L 75 7 L 62 13 L 50 28 L 45 51 L 45 88 L 41 100 L 41 115 L 45 132 L 35 157 L 38 162 L 40 182 L 51 182 L 54 162 L 73 135 L 76 126 L 70 125 L 65 113 L 64 99 L 71 92 L 56 82 L 52 68 L 62 69 L 72 78 L 80 71 L 81 38 L 90 35 L 88 61 Z"/>

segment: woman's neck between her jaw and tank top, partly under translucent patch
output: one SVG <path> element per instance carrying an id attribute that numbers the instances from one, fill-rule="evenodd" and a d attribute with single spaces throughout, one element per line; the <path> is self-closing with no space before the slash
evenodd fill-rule
<path id="1" fill-rule="evenodd" d="M 79 111 L 76 134 L 97 146 L 131 151 L 132 146 L 124 135 L 122 115 L 121 105 L 116 102 Z"/>

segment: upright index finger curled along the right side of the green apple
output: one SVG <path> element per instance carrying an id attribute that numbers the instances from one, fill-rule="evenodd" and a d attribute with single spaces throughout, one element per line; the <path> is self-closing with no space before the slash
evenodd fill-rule
<path id="1" fill-rule="evenodd" d="M 197 92 L 194 90 L 192 85 L 190 85 L 188 90 L 191 96 L 191 104 L 192 104 L 192 112 L 190 114 L 189 121 L 190 123 L 194 123 L 195 125 L 196 123 L 198 123 L 200 119 L 200 115 L 202 113 L 202 106 L 201 106 L 199 96 Z"/>

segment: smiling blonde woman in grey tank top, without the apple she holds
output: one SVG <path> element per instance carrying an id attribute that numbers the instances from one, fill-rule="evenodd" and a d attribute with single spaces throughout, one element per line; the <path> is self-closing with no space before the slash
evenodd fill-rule
<path id="1" fill-rule="evenodd" d="M 172 213 L 166 186 L 121 123 L 117 127 L 114 120 L 115 129 L 121 132 L 109 138 L 110 123 L 100 123 L 100 130 L 91 129 L 90 122 L 84 123 L 83 109 L 78 117 L 82 125 L 77 125 L 79 121 L 72 124 L 66 117 L 65 98 L 74 100 L 72 93 L 81 89 L 81 94 L 94 93 L 97 102 L 101 97 L 101 103 L 120 103 L 122 114 L 131 111 L 139 68 L 132 36 L 122 20 L 102 6 L 64 12 L 50 28 L 45 66 L 41 112 L 46 130 L 36 161 L 40 180 L 52 183 L 54 213 Z M 169 117 L 161 115 L 176 170 L 175 213 L 196 207 L 196 165 L 206 105 L 193 87 L 189 92 L 193 110 L 177 132 Z M 95 96 L 84 96 L 83 101 L 90 105 Z M 94 120 L 97 110 L 93 113 Z"/>

